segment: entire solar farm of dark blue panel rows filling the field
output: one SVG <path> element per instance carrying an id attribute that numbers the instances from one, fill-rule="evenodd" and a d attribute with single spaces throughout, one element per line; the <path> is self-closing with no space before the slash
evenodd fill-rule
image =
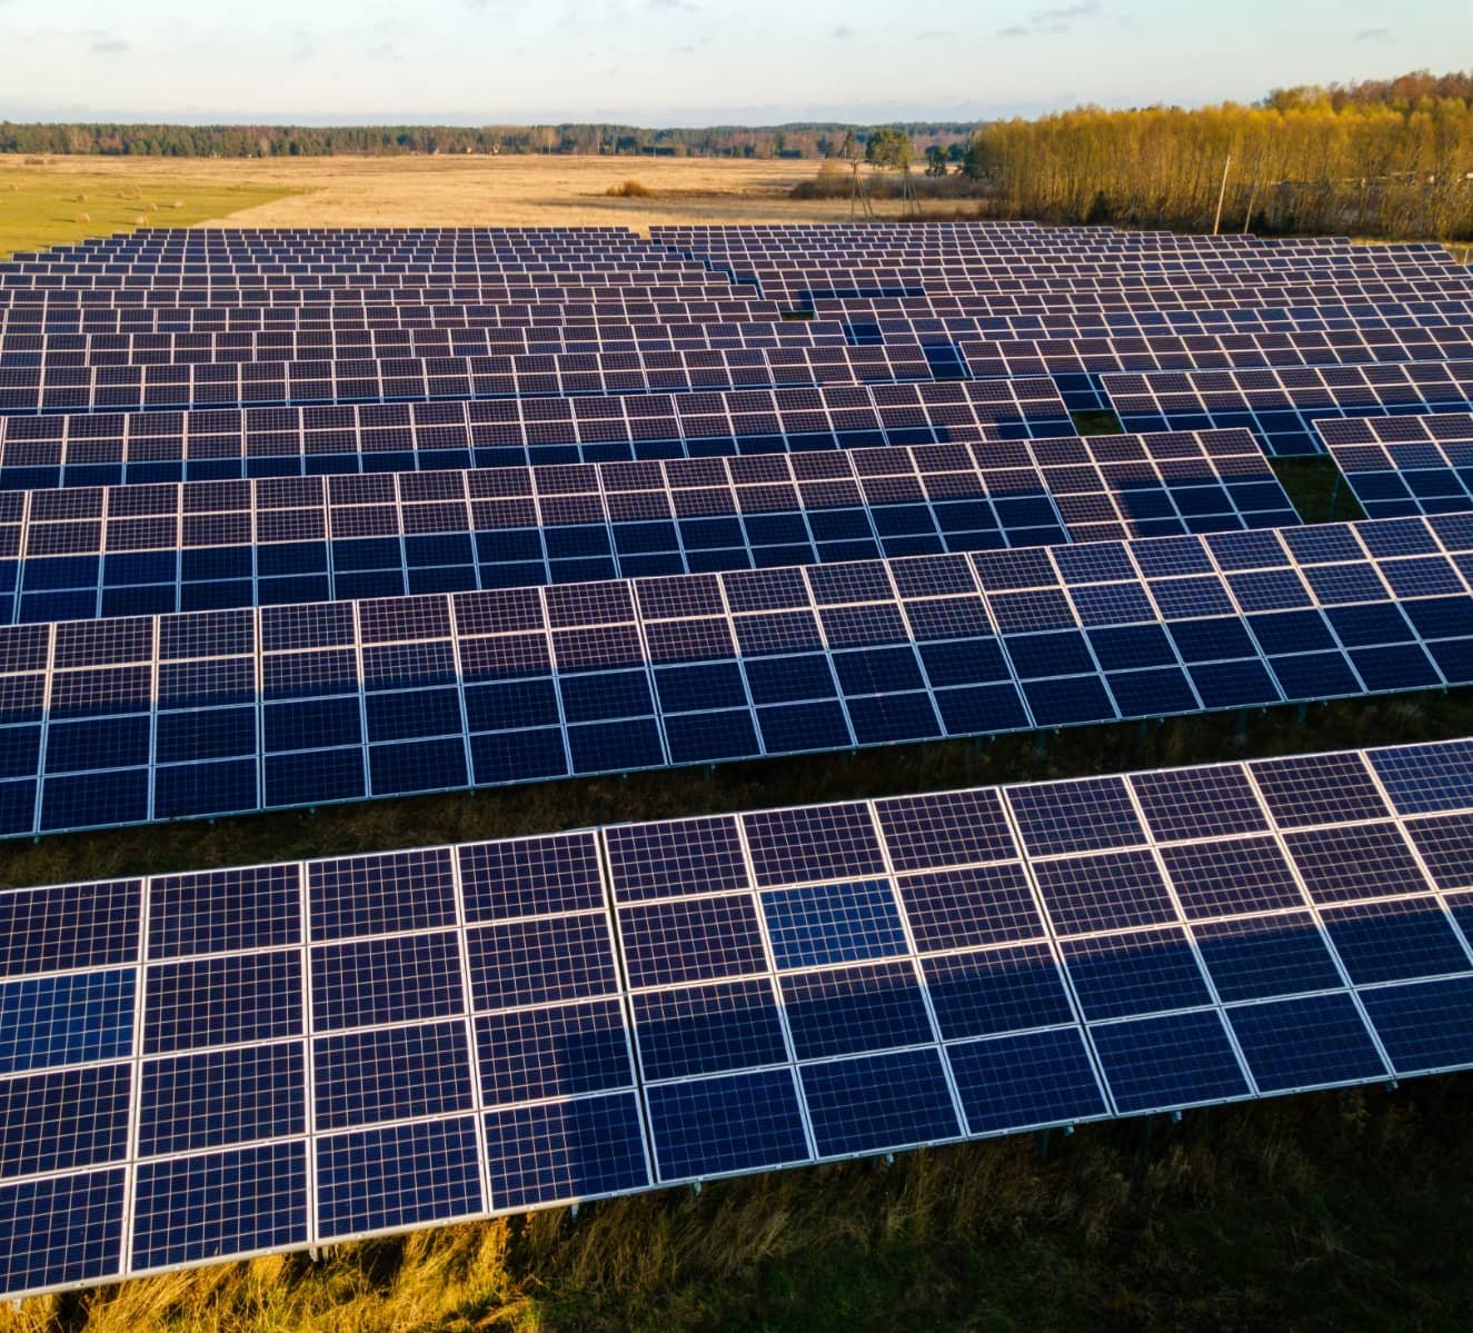
<path id="1" fill-rule="evenodd" d="M 1470 311 L 1033 224 L 18 255 L 0 837 L 1473 683 Z M 1467 847 L 1452 742 L 0 893 L 0 1293 L 1464 1068 Z"/>

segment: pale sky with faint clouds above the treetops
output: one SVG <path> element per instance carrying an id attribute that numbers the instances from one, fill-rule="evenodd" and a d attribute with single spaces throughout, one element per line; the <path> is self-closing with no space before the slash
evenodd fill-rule
<path id="1" fill-rule="evenodd" d="M 972 121 L 1445 72 L 1473 4 L 0 0 L 0 52 L 19 121 Z"/>

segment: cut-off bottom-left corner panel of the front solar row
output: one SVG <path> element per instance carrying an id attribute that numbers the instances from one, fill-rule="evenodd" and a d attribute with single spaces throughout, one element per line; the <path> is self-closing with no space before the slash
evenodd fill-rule
<path id="1" fill-rule="evenodd" d="M 0 1284 L 32 1292 L 116 1276 L 122 1197 L 121 1167 L 0 1186 Z"/>

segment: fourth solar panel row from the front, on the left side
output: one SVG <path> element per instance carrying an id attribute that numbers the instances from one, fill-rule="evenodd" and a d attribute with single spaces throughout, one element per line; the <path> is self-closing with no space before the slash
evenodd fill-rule
<path id="1" fill-rule="evenodd" d="M 1052 380 L 0 417 L 0 490 L 1072 435 Z"/>

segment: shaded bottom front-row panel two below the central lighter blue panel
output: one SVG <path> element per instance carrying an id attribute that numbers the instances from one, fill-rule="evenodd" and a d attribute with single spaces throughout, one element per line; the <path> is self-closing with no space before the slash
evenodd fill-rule
<path id="1" fill-rule="evenodd" d="M 804 1065 L 820 1158 L 934 1143 L 962 1133 L 935 1049 Z"/>

